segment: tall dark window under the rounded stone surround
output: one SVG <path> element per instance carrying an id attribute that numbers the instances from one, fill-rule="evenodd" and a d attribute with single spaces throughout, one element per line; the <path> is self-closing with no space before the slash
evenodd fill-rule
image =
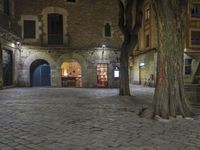
<path id="1" fill-rule="evenodd" d="M 60 14 L 48 14 L 48 43 L 63 44 L 63 16 Z"/>

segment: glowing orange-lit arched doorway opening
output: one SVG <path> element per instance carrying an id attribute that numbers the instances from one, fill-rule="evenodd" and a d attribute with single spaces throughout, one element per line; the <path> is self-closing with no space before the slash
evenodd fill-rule
<path id="1" fill-rule="evenodd" d="M 82 87 L 81 66 L 75 60 L 61 65 L 62 87 Z"/>

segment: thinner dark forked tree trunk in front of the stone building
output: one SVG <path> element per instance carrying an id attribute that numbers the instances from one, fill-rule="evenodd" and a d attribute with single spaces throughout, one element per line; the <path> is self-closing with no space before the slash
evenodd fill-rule
<path id="1" fill-rule="evenodd" d="M 138 42 L 138 32 L 142 23 L 143 0 L 118 0 L 119 3 L 119 28 L 124 35 L 120 53 L 120 88 L 119 95 L 129 96 L 128 59 Z M 133 23 L 133 7 L 137 14 Z"/>

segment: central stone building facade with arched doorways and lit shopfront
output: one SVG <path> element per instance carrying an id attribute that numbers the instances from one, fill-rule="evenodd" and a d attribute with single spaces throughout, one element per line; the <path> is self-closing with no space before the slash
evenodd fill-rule
<path id="1" fill-rule="evenodd" d="M 4 1 L 13 3 L 21 37 L 2 53 L 12 60 L 9 85 L 119 86 L 123 38 L 115 0 Z"/>

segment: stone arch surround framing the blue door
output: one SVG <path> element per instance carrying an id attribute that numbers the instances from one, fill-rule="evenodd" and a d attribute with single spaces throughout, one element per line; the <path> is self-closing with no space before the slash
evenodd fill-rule
<path id="1" fill-rule="evenodd" d="M 44 60 L 49 63 L 50 68 L 51 68 L 51 86 L 55 86 L 56 85 L 56 81 L 54 80 L 54 72 L 56 70 L 55 61 L 52 59 L 52 57 L 49 54 L 42 53 L 42 52 L 32 54 L 28 58 L 25 59 L 25 61 L 23 63 L 23 68 L 22 68 L 22 70 L 20 70 L 20 73 L 19 73 L 20 74 L 20 81 L 19 81 L 20 85 L 21 86 L 30 86 L 31 85 L 30 68 L 31 68 L 31 64 L 36 60 Z"/>

